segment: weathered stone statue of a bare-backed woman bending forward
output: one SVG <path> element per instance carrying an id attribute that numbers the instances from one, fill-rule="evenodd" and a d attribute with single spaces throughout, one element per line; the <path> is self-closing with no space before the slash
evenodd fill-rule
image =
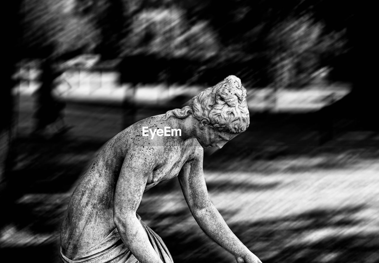
<path id="1" fill-rule="evenodd" d="M 203 174 L 203 148 L 221 148 L 248 126 L 246 90 L 229 76 L 193 97 L 190 106 L 143 119 L 114 136 L 72 195 L 61 227 L 63 262 L 173 262 L 136 210 L 146 190 L 176 176 L 203 231 L 238 263 L 261 262 L 209 200 Z"/>

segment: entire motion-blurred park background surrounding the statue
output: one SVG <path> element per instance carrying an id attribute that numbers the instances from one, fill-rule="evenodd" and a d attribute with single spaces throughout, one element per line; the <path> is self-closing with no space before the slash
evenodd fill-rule
<path id="1" fill-rule="evenodd" d="M 211 200 L 264 263 L 379 261 L 377 62 L 370 6 L 333 0 L 14 0 L 0 88 L 0 249 L 60 262 L 72 188 L 139 119 L 228 75 L 251 124 L 207 150 Z M 358 10 L 364 9 L 364 17 Z M 176 179 L 139 215 L 175 262 L 234 262 Z"/>

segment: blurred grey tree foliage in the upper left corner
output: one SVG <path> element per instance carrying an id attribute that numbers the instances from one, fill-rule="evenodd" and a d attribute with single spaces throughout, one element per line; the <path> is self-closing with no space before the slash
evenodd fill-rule
<path id="1" fill-rule="evenodd" d="M 89 52 L 100 41 L 91 16 L 78 13 L 75 0 L 24 0 L 20 14 L 25 57 Z"/>

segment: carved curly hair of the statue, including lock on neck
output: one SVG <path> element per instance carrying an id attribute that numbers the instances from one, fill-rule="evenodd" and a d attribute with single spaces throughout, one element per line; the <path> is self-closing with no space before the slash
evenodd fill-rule
<path id="1" fill-rule="evenodd" d="M 233 75 L 226 77 L 211 88 L 207 88 L 191 99 L 191 105 L 166 112 L 171 116 L 185 119 L 190 114 L 200 120 L 209 119 L 209 124 L 218 131 L 241 133 L 249 127 L 249 110 L 246 104 L 246 90 L 241 80 Z"/>

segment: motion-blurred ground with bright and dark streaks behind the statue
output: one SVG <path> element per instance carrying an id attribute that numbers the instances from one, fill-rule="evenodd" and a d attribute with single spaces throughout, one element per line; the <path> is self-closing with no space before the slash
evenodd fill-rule
<path id="1" fill-rule="evenodd" d="M 16 255 L 15 262 L 58 263 L 69 189 L 121 130 L 122 110 L 69 103 L 65 120 L 74 127 L 40 138 L 29 135 L 33 101 L 22 97 L 19 105 L 18 155 L 9 198 L 2 200 L 0 248 L 5 258 Z M 246 132 L 207 152 L 211 200 L 265 263 L 377 262 L 379 135 L 348 131 L 318 146 L 312 118 L 252 116 Z M 175 262 L 234 262 L 197 226 L 176 179 L 147 192 L 138 213 Z"/>

